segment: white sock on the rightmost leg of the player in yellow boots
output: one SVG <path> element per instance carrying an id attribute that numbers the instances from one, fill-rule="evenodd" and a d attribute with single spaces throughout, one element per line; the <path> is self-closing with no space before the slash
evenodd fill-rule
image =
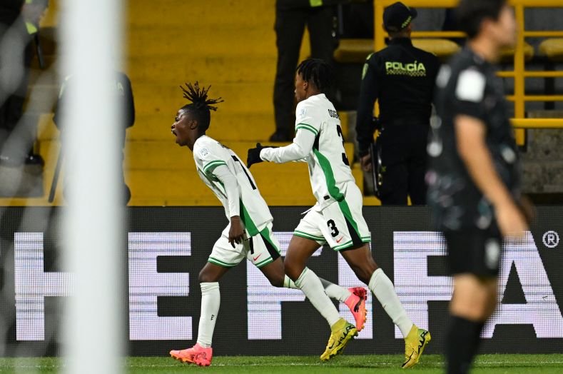
<path id="1" fill-rule="evenodd" d="M 412 320 L 407 315 L 405 308 L 402 307 L 391 280 L 387 278 L 382 269 L 377 269 L 373 272 L 370 284 L 367 286 L 379 300 L 393 323 L 401 330 L 402 336 L 406 338 L 412 328 Z"/>

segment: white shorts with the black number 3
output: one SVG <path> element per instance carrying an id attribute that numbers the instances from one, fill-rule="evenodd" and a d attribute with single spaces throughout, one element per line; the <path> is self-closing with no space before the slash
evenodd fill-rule
<path id="1" fill-rule="evenodd" d="M 362 216 L 362 193 L 355 183 L 348 185 L 343 201 L 335 201 L 323 211 L 309 211 L 293 235 L 328 244 L 335 251 L 370 243 L 371 233 Z"/>

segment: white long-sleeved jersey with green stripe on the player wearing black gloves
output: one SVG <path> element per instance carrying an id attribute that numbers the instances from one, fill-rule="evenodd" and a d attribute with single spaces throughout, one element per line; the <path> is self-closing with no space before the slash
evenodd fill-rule
<path id="1" fill-rule="evenodd" d="M 340 117 L 324 93 L 301 101 L 295 111 L 295 139 L 289 146 L 265 148 L 260 158 L 284 163 L 304 158 L 318 207 L 341 201 L 354 182 L 344 149 Z"/>

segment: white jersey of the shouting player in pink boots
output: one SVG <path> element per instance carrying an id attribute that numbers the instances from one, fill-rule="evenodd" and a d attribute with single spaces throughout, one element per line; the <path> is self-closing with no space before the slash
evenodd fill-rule
<path id="1" fill-rule="evenodd" d="M 268 204 L 260 195 L 252 174 L 236 153 L 213 138 L 204 135 L 198 138 L 193 145 L 193 159 L 196 161 L 198 175 L 223 204 L 227 218 L 230 220 L 231 216 L 240 216 L 249 237 L 257 235 L 269 222 L 273 221 Z M 225 186 L 213 173 L 218 166 L 226 166 L 228 171 L 235 176 L 240 190 L 239 206 L 236 206 L 235 202 L 229 204 Z"/>

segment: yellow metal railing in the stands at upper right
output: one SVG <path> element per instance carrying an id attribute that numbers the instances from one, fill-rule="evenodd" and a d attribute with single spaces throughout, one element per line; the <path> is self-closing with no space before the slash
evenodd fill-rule
<path id="1" fill-rule="evenodd" d="M 397 0 L 374 0 L 375 10 L 375 51 L 385 48 L 387 32 L 383 29 L 383 9 Z M 459 0 L 402 0 L 407 6 L 415 8 L 454 8 Z M 524 40 L 526 38 L 562 37 L 563 31 L 527 31 L 524 27 L 525 8 L 563 8 L 563 0 L 509 0 L 514 6 L 518 29 L 517 43 L 514 47 L 514 70 L 499 71 L 499 76 L 514 79 L 514 94 L 507 96 L 514 101 L 514 127 L 524 128 L 563 128 L 563 118 L 524 118 L 527 101 L 563 101 L 563 95 L 526 95 L 526 78 L 563 78 L 563 71 L 527 71 L 524 64 Z M 463 38 L 460 31 L 413 31 L 413 38 Z M 516 131 L 518 143 L 524 143 L 524 131 Z"/>

